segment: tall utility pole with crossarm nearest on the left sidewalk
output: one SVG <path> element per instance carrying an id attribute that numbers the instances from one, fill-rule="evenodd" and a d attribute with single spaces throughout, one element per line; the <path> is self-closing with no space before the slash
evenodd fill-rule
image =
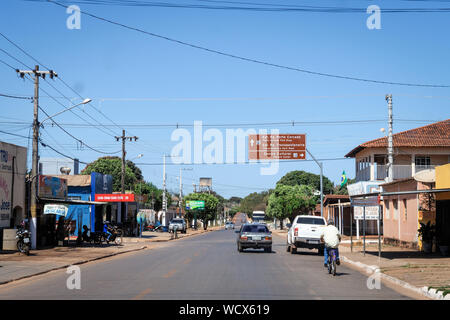
<path id="1" fill-rule="evenodd" d="M 30 232 L 31 232 L 31 249 L 36 249 L 36 233 L 37 233 L 37 205 L 38 205 L 38 180 L 39 180 L 39 78 L 45 79 L 46 75 L 49 75 L 51 79 L 57 77 L 58 74 L 53 70 L 40 71 L 39 66 L 36 65 L 34 70 L 19 70 L 16 72 L 21 78 L 25 75 L 34 76 L 34 109 L 33 109 L 33 152 L 32 152 L 32 165 L 31 165 L 31 221 Z"/>

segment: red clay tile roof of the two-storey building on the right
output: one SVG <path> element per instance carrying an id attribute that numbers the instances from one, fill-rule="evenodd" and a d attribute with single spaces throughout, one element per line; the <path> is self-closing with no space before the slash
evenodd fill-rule
<path id="1" fill-rule="evenodd" d="M 450 147 L 450 119 L 410 129 L 392 135 L 394 147 Z M 346 157 L 355 155 L 364 148 L 387 148 L 387 137 L 360 144 Z"/>

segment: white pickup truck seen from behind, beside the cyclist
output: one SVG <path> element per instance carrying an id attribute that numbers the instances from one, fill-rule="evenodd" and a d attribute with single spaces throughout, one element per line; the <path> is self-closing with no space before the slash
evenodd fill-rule
<path id="1" fill-rule="evenodd" d="M 318 249 L 323 254 L 324 244 L 320 242 L 322 228 L 327 222 L 323 217 L 296 216 L 287 235 L 286 251 L 297 253 L 297 248 Z"/>

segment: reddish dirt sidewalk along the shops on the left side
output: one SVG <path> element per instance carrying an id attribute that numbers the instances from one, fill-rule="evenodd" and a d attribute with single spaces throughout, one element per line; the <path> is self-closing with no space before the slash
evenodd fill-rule
<path id="1" fill-rule="evenodd" d="M 186 234 L 179 233 L 178 239 L 174 239 L 174 241 L 220 228 L 211 227 L 206 231 L 188 229 Z M 79 247 L 55 247 L 51 249 L 31 250 L 29 256 L 19 252 L 0 254 L 0 285 L 53 270 L 67 268 L 70 265 L 83 264 L 127 252 L 152 249 L 160 246 L 161 242 L 171 241 L 171 238 L 172 234 L 168 232 L 146 231 L 143 232 L 142 238 L 123 238 L 120 246 L 103 244 Z"/>

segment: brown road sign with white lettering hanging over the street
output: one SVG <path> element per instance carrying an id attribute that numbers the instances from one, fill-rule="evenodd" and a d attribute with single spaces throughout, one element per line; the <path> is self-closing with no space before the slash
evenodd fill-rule
<path id="1" fill-rule="evenodd" d="M 305 160 L 305 134 L 250 134 L 249 160 Z"/>

